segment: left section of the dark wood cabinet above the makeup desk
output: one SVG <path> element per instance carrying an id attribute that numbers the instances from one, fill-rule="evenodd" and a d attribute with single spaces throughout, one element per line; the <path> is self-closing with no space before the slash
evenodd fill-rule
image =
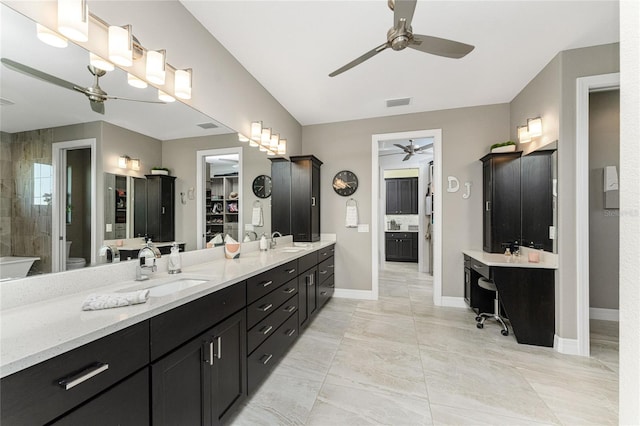
<path id="1" fill-rule="evenodd" d="M 521 152 L 487 154 L 482 161 L 483 245 L 489 253 L 502 253 L 503 243 L 520 238 Z"/>

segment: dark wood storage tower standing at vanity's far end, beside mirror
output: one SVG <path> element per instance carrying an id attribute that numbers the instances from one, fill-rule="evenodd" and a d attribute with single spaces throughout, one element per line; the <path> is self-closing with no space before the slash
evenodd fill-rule
<path id="1" fill-rule="evenodd" d="M 313 155 L 291 157 L 291 234 L 293 241 L 320 241 L 321 165 L 322 161 Z"/>

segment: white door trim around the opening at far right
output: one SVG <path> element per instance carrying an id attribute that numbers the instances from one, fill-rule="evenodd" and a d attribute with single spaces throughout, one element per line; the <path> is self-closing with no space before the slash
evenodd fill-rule
<path id="1" fill-rule="evenodd" d="M 578 354 L 589 356 L 589 92 L 620 87 L 620 73 L 576 79 L 576 282 Z"/>

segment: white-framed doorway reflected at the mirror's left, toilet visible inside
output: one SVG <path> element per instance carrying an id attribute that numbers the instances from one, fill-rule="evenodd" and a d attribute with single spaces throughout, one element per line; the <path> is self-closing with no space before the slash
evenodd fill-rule
<path id="1" fill-rule="evenodd" d="M 96 140 L 54 143 L 52 159 L 52 272 L 95 264 L 98 251 Z"/>

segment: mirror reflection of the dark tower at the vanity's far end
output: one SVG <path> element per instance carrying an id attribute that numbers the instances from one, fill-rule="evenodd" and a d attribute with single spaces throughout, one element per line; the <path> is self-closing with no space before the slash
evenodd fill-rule
<path id="1" fill-rule="evenodd" d="M 291 235 L 291 163 L 271 160 L 271 231 Z"/>

